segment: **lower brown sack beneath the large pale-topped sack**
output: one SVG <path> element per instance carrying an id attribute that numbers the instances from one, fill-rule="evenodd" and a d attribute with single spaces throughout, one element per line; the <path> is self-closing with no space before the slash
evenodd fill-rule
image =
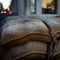
<path id="1" fill-rule="evenodd" d="M 45 58 L 47 55 L 47 45 L 41 42 L 30 41 L 23 45 L 15 46 L 10 49 L 5 49 L 2 60 L 17 60 L 25 58 Z M 29 56 L 27 56 L 29 55 Z"/>

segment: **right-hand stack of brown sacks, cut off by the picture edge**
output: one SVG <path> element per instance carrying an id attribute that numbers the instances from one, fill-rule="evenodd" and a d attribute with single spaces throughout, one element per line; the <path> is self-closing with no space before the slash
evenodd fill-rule
<path id="1" fill-rule="evenodd" d="M 60 60 L 60 17 L 45 17 L 44 22 L 48 25 L 54 41 L 54 58 Z"/>

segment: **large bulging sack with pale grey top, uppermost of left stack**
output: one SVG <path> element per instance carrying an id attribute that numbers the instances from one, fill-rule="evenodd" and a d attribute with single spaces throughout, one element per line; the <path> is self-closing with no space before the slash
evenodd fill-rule
<path id="1" fill-rule="evenodd" d="M 7 20 L 6 20 L 7 19 Z M 8 17 L 3 25 L 0 44 L 22 44 L 28 41 L 50 42 L 49 30 L 39 19 Z"/>

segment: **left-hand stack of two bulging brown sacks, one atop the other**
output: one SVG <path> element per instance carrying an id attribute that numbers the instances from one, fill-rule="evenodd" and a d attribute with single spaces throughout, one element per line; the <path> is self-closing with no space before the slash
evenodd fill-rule
<path id="1" fill-rule="evenodd" d="M 47 26 L 34 18 L 7 17 L 2 26 L 2 60 L 16 60 L 27 55 L 47 57 L 47 43 L 51 42 Z M 32 58 L 32 57 L 30 57 Z"/>

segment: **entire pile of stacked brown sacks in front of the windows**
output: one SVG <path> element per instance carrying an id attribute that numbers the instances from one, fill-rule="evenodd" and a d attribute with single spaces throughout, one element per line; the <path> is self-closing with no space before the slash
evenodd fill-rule
<path id="1" fill-rule="evenodd" d="M 59 20 L 14 16 L 7 17 L 5 22 L 0 40 L 1 60 L 57 59 Z"/>

